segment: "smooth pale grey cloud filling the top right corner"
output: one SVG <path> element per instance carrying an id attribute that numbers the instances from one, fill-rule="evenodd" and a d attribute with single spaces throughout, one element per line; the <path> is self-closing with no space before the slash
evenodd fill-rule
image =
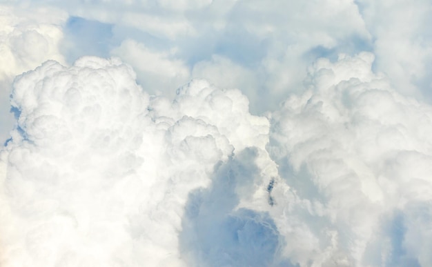
<path id="1" fill-rule="evenodd" d="M 366 27 L 375 39 L 377 69 L 386 72 L 393 86 L 404 95 L 430 99 L 432 10 L 429 1 L 359 2 Z M 424 84 L 424 80 L 429 82 Z"/>

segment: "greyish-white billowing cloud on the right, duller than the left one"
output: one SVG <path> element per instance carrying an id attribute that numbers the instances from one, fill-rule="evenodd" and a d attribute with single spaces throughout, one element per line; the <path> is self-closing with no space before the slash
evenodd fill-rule
<path id="1" fill-rule="evenodd" d="M 272 114 L 268 150 L 295 192 L 273 195 L 284 199 L 275 222 L 301 266 L 431 264 L 412 240 L 430 224 L 432 109 L 371 72 L 372 59 L 318 61 L 310 91 Z"/>

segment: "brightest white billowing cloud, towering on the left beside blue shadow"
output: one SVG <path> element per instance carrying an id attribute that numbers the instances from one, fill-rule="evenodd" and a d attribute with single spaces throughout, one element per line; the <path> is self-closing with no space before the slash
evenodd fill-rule
<path id="1" fill-rule="evenodd" d="M 14 82 L 1 159 L 2 266 L 177 266 L 191 190 L 268 120 L 238 90 L 192 81 L 150 99 L 117 59 L 48 61 Z M 263 181 L 256 181 L 257 184 Z"/>

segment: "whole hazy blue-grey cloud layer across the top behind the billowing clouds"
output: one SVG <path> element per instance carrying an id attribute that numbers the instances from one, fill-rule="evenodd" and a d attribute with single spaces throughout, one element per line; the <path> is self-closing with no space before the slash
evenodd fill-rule
<path id="1" fill-rule="evenodd" d="M 374 70 L 385 72 L 395 90 L 432 99 L 428 0 L 3 2 L 18 17 L 26 13 L 21 10 L 45 10 L 24 16 L 37 18 L 36 25 L 55 21 L 60 12 L 62 23 L 48 25 L 61 25 L 63 39 L 54 43 L 66 62 L 84 55 L 121 57 L 152 95 L 173 98 L 181 84 L 207 79 L 241 89 L 251 112 L 262 115 L 303 91 L 306 68 L 316 59 L 369 51 Z M 57 60 L 39 57 L 35 66 Z"/>

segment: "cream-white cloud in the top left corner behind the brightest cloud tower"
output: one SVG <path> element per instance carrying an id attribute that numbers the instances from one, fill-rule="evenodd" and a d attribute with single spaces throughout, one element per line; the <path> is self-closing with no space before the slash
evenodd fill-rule
<path id="1" fill-rule="evenodd" d="M 67 15 L 55 8 L 0 5 L 0 141 L 12 130 L 9 94 L 12 80 L 47 59 L 63 62 L 58 44 Z"/>

